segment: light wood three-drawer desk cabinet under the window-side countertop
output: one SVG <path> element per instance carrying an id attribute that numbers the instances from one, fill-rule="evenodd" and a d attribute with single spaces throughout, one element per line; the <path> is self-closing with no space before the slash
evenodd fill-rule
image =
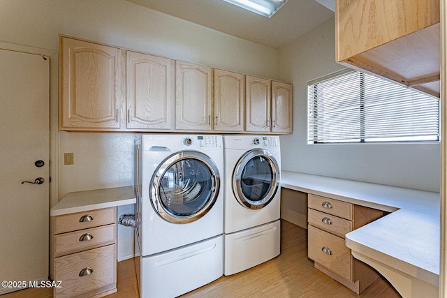
<path id="1" fill-rule="evenodd" d="M 351 255 L 344 236 L 385 216 L 385 211 L 348 202 L 308 196 L 308 256 L 314 267 L 360 294 L 379 274 Z"/>

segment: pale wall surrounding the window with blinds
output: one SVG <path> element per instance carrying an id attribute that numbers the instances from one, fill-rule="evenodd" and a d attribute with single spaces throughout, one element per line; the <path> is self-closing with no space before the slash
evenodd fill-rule
<path id="1" fill-rule="evenodd" d="M 293 82 L 293 135 L 281 136 L 284 170 L 439 191 L 439 144 L 307 144 L 307 82 L 342 69 L 330 19 L 279 52 L 280 79 Z"/>

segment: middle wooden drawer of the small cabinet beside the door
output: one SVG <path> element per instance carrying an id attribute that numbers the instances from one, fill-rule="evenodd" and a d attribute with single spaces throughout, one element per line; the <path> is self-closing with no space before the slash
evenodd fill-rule
<path id="1" fill-rule="evenodd" d="M 114 244 L 116 227 L 117 225 L 112 223 L 97 228 L 57 234 L 54 236 L 54 256 L 59 257 L 89 248 Z"/>

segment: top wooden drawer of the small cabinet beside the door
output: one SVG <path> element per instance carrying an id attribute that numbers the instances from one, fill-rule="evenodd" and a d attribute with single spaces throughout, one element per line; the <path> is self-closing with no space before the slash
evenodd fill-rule
<path id="1" fill-rule="evenodd" d="M 54 216 L 54 234 L 108 225 L 115 223 L 116 217 L 115 207 Z"/>

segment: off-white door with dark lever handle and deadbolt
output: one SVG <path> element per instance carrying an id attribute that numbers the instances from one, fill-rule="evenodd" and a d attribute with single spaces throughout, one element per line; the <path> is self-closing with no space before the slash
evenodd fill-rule
<path id="1" fill-rule="evenodd" d="M 36 161 L 43 161 L 38 167 Z M 0 50 L 0 281 L 48 278 L 50 58 Z M 29 184 L 38 177 L 43 184 Z M 15 290 L 0 286 L 0 294 Z M 19 288 L 22 285 L 19 285 Z"/>

